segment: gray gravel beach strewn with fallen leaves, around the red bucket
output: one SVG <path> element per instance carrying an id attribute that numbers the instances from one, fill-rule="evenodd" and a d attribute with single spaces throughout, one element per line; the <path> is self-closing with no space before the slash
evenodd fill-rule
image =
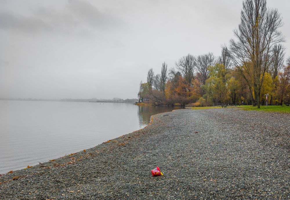
<path id="1" fill-rule="evenodd" d="M 2 174 L 0 199 L 290 199 L 289 136 L 287 113 L 161 113 L 142 130 Z M 164 176 L 152 177 L 156 166 Z"/>

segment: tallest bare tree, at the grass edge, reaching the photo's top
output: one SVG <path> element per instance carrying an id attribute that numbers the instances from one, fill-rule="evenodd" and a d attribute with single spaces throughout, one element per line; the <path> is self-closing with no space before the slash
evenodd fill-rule
<path id="1" fill-rule="evenodd" d="M 267 9 L 266 0 L 244 0 L 241 23 L 234 30 L 237 41 L 230 40 L 231 60 L 246 79 L 249 89 L 253 87 L 258 108 L 264 74 L 273 61 L 271 49 L 284 41 L 278 30 L 281 20 L 277 9 Z"/>

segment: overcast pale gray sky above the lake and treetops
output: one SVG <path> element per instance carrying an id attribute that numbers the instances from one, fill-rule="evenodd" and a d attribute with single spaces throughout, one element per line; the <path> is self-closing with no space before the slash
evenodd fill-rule
<path id="1" fill-rule="evenodd" d="M 282 14 L 290 56 L 290 1 Z M 241 0 L 0 0 L 0 97 L 136 98 L 149 68 L 220 54 Z"/>

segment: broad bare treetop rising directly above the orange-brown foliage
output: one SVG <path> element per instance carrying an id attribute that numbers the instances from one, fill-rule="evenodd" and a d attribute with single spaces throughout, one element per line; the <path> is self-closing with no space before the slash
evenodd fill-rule
<path id="1" fill-rule="evenodd" d="M 186 82 L 191 85 L 196 65 L 195 57 L 191 54 L 188 54 L 187 56 L 180 58 L 179 61 L 175 63 L 175 65 L 177 69 L 180 70 Z"/>

